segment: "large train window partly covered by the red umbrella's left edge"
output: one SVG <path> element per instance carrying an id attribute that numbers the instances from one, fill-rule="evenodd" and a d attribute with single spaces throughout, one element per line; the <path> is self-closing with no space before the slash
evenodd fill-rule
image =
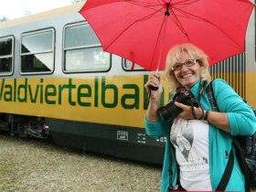
<path id="1" fill-rule="evenodd" d="M 107 71 L 111 54 L 103 51 L 98 37 L 89 24 L 68 25 L 64 29 L 64 71 Z"/>

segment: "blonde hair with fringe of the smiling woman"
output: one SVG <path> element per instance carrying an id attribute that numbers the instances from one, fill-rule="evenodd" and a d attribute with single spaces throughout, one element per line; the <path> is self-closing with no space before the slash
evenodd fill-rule
<path id="1" fill-rule="evenodd" d="M 168 81 L 170 92 L 175 92 L 176 88 L 181 86 L 181 84 L 176 80 L 172 67 L 176 64 L 183 52 L 186 52 L 191 59 L 197 59 L 199 65 L 202 67 L 200 74 L 201 80 L 207 80 L 208 82 L 211 81 L 208 69 L 208 56 L 205 52 L 189 43 L 177 45 L 169 50 L 165 62 L 165 79 Z"/>

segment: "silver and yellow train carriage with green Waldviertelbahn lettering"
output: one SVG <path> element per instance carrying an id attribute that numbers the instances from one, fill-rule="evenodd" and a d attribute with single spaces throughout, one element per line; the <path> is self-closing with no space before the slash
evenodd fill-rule
<path id="1" fill-rule="evenodd" d="M 102 50 L 83 4 L 0 23 L 0 130 L 161 164 L 165 138 L 144 132 L 149 72 Z M 254 12 L 245 53 L 210 70 L 256 107 Z"/>

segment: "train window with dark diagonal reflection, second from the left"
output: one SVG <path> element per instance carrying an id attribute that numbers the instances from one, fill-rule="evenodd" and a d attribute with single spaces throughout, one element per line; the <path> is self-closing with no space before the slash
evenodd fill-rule
<path id="1" fill-rule="evenodd" d="M 54 69 L 54 29 L 25 33 L 21 37 L 22 74 L 51 73 Z"/>

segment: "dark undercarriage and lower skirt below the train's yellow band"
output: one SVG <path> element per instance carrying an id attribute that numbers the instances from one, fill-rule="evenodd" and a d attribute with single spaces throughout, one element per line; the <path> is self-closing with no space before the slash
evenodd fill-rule
<path id="1" fill-rule="evenodd" d="M 0 113 L 0 131 L 155 165 L 161 165 L 164 158 L 165 141 L 147 136 L 142 128 Z"/>

